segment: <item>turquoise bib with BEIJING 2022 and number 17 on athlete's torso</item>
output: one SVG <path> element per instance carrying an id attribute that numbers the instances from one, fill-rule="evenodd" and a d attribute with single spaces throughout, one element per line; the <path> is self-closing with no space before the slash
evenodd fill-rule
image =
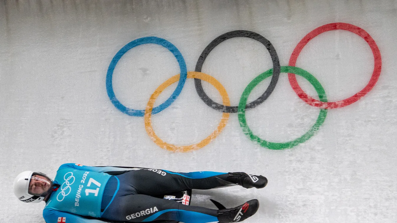
<path id="1" fill-rule="evenodd" d="M 51 194 L 45 208 L 100 217 L 102 195 L 110 177 L 107 173 L 76 170 L 62 165 L 54 180 L 61 186 Z"/>

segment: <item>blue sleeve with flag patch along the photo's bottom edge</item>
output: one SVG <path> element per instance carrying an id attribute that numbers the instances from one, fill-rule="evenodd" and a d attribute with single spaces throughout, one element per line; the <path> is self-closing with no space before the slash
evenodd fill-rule
<path id="1" fill-rule="evenodd" d="M 52 208 L 44 208 L 43 217 L 46 223 L 108 223 L 94 218 L 87 218 L 68 212 L 61 212 Z"/>

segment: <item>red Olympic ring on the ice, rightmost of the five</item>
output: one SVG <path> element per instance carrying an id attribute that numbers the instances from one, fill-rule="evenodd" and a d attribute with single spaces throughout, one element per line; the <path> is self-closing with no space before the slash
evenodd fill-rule
<path id="1" fill-rule="evenodd" d="M 318 27 L 317 29 L 312 30 L 309 32 L 306 36 L 303 37 L 303 39 L 298 43 L 298 45 L 295 47 L 294 51 L 291 54 L 291 58 L 289 59 L 289 66 L 295 67 L 296 61 L 298 59 L 299 53 L 301 53 L 302 49 L 306 44 L 314 37 L 318 36 L 318 34 L 321 34 L 323 32 L 327 32 L 330 30 L 337 30 L 337 29 L 342 29 L 342 30 L 347 30 L 350 32 L 353 32 L 357 34 L 358 36 L 361 36 L 368 45 L 370 46 L 372 53 L 374 54 L 374 72 L 372 72 L 372 76 L 370 81 L 368 82 L 367 86 L 365 86 L 361 91 L 356 93 L 355 95 L 341 100 L 341 101 L 335 101 L 335 102 L 322 102 L 318 101 L 310 96 L 308 96 L 302 88 L 299 86 L 297 79 L 295 77 L 295 74 L 288 73 L 288 80 L 289 83 L 292 86 L 292 89 L 295 91 L 295 93 L 300 97 L 304 102 L 306 102 L 309 105 L 315 106 L 315 107 L 320 107 L 321 109 L 336 109 L 336 108 L 341 108 L 345 107 L 346 105 L 350 105 L 352 103 L 355 103 L 366 95 L 372 88 L 375 86 L 376 82 L 379 79 L 380 76 L 380 71 L 382 69 L 382 59 L 380 56 L 380 51 L 378 46 L 375 43 L 375 40 L 366 32 L 364 29 L 361 29 L 360 27 L 357 27 L 355 25 L 351 25 L 349 23 L 330 23 L 327 25 L 323 25 Z"/>

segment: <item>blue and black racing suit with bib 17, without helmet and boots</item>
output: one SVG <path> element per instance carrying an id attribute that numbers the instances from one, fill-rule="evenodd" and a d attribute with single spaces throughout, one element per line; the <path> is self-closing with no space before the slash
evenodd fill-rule
<path id="1" fill-rule="evenodd" d="M 167 170 L 92 167 L 63 164 L 46 200 L 46 223 L 147 222 L 184 223 L 218 221 L 217 210 L 183 205 L 156 195 L 189 189 L 211 189 L 224 184 L 227 173 L 176 173 Z"/>

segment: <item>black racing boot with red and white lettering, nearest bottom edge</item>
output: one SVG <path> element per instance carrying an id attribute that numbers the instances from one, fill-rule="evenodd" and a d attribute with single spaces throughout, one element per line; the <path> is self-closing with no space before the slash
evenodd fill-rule
<path id="1" fill-rule="evenodd" d="M 256 213 L 259 208 L 259 201 L 256 199 L 245 202 L 235 208 L 226 208 L 218 210 L 218 221 L 221 222 L 239 222 L 244 221 Z"/>

